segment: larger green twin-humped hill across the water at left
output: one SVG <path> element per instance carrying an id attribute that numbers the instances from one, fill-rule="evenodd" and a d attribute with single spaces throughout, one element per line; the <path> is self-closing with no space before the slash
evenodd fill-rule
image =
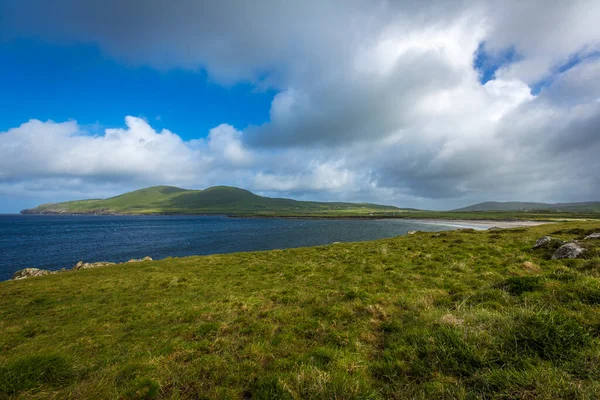
<path id="1" fill-rule="evenodd" d="M 248 190 L 215 186 L 186 190 L 154 186 L 108 199 L 42 204 L 22 214 L 229 214 L 229 215 L 365 215 L 401 211 L 369 203 L 298 201 L 256 195 Z"/>

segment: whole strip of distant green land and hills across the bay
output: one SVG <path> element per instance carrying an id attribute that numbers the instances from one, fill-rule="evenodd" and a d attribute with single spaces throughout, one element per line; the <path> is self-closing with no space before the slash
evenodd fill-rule
<path id="1" fill-rule="evenodd" d="M 493 211 L 486 204 L 517 204 Z M 522 205 L 543 203 L 481 203 L 457 211 L 425 211 L 369 203 L 297 201 L 258 196 L 247 190 L 216 186 L 186 190 L 154 186 L 109 199 L 78 200 L 43 204 L 24 214 L 226 214 L 240 217 L 300 218 L 439 218 L 488 220 L 600 219 L 600 203 L 572 203 L 570 208 L 528 211 Z M 579 204 L 579 207 L 574 205 Z M 481 207 L 480 207 L 481 206 Z M 498 207 L 501 208 L 501 207 Z M 490 209 L 492 211 L 490 211 Z"/>

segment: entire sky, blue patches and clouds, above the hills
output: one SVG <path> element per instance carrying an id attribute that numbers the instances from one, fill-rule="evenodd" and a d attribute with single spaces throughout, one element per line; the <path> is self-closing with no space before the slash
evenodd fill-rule
<path id="1" fill-rule="evenodd" d="M 3 0 L 0 213 L 152 185 L 600 200 L 595 0 Z"/>

